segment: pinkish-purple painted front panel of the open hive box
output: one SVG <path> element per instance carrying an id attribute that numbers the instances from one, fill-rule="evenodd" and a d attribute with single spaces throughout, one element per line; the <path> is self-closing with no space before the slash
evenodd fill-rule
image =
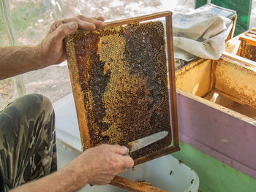
<path id="1" fill-rule="evenodd" d="M 181 141 L 256 179 L 256 121 L 246 122 L 181 93 L 177 104 Z"/>

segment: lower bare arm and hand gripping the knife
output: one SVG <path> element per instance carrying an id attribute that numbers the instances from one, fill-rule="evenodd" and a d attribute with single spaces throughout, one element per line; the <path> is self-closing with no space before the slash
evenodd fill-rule
<path id="1" fill-rule="evenodd" d="M 73 192 L 86 184 L 106 185 L 116 174 L 132 168 L 133 160 L 119 145 L 99 145 L 86 150 L 64 169 L 10 192 Z"/>

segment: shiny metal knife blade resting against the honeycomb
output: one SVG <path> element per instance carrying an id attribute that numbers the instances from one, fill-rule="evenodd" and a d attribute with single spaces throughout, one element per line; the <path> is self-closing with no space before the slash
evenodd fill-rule
<path id="1" fill-rule="evenodd" d="M 168 131 L 160 131 L 157 134 L 151 134 L 147 137 L 143 137 L 141 139 L 135 140 L 133 142 L 129 142 L 128 148 L 129 148 L 129 153 L 134 152 L 135 150 L 139 150 L 143 147 L 146 147 L 148 145 L 151 145 L 154 142 L 159 141 L 160 139 L 163 139 L 167 136 Z"/>

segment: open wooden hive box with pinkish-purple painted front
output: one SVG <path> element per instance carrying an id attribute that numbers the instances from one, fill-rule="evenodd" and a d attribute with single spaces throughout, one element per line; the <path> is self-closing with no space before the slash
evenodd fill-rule
<path id="1" fill-rule="evenodd" d="M 219 60 L 176 71 L 178 123 L 182 141 L 256 178 L 256 62 L 246 58 L 255 42 L 246 33 L 230 39 Z"/>

